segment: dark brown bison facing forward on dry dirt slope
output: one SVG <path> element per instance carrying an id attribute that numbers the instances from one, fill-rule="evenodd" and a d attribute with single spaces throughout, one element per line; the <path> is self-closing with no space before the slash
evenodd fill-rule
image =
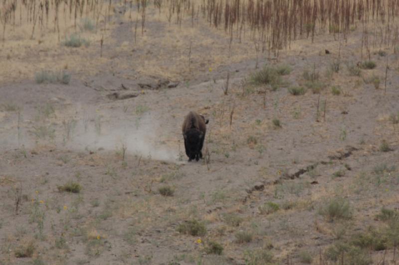
<path id="1" fill-rule="evenodd" d="M 190 111 L 183 122 L 183 137 L 186 155 L 189 157 L 189 162 L 195 159 L 198 161 L 202 158 L 202 146 L 205 139 L 206 125 L 209 120 L 198 114 Z"/>

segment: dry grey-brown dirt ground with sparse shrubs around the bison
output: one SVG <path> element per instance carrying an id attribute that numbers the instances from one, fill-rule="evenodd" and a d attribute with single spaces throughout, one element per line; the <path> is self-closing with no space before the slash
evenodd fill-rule
<path id="1" fill-rule="evenodd" d="M 347 65 L 366 59 L 360 29 L 341 45 L 300 39 L 268 60 L 249 37 L 228 56 L 223 30 L 189 18 L 179 27 L 153 6 L 135 40 L 136 12 L 131 22 L 122 10 L 113 3 L 105 30 L 82 33 L 87 47 L 18 27 L 0 46 L 0 264 L 398 263 L 392 48 L 372 48 L 377 67 L 352 76 Z M 339 71 L 326 74 L 338 53 Z M 258 70 L 289 66 L 290 85 L 248 85 L 257 60 Z M 40 70 L 71 81 L 36 84 Z M 306 71 L 322 90 L 291 94 Z M 210 120 L 206 161 L 186 162 L 190 110 Z M 80 192 L 60 188 L 71 183 Z"/>

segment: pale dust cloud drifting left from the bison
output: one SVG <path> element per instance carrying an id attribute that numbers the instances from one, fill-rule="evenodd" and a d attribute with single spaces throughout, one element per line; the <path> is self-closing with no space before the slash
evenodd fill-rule
<path id="1" fill-rule="evenodd" d="M 0 147 L 31 149 L 37 144 L 55 144 L 60 150 L 94 152 L 120 152 L 125 148 L 127 155 L 180 164 L 184 147 L 179 151 L 180 135 L 169 130 L 151 113 L 121 117 L 120 113 L 99 114 L 92 110 L 88 114 L 80 109 L 73 115 L 57 115 L 56 119 L 45 122 L 22 120 L 20 126 L 8 124 L 8 130 L 0 131 Z"/>

